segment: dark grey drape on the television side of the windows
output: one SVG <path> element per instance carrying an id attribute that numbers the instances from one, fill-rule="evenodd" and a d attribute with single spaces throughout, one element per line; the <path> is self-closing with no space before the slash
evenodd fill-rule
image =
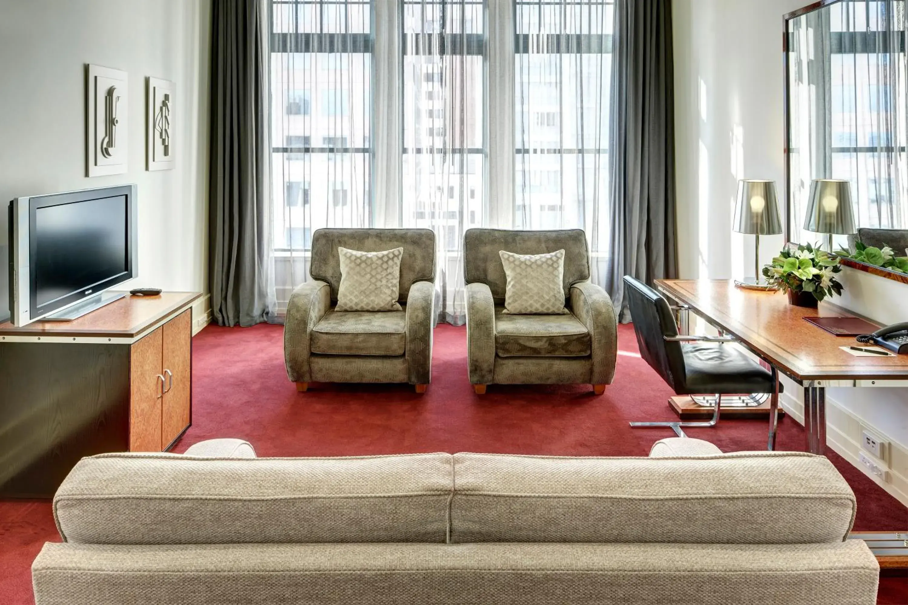
<path id="1" fill-rule="evenodd" d="M 263 0 L 214 0 L 209 258 L 222 326 L 272 315 L 267 21 Z"/>

